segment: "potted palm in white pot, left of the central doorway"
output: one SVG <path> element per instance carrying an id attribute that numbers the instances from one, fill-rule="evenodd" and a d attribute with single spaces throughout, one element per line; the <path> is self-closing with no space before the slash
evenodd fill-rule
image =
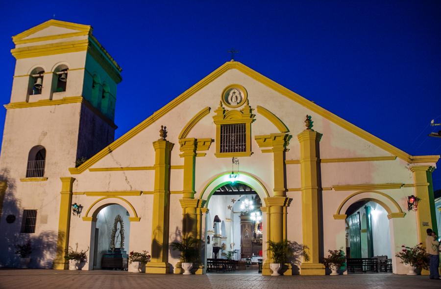
<path id="1" fill-rule="evenodd" d="M 180 262 L 182 269 L 184 269 L 183 275 L 190 275 L 193 262 L 199 260 L 199 243 L 199 240 L 188 237 L 182 239 L 182 242 L 174 241 L 170 244 L 173 250 L 181 252 Z"/>

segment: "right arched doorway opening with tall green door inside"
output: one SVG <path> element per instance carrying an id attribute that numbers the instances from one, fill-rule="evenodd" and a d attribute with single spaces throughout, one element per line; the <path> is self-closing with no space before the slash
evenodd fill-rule
<path id="1" fill-rule="evenodd" d="M 348 273 L 392 273 L 388 212 L 372 200 L 360 200 L 346 215 Z"/>

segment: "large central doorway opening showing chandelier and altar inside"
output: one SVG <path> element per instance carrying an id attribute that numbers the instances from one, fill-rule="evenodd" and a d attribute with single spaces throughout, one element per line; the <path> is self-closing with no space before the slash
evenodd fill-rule
<path id="1" fill-rule="evenodd" d="M 262 200 L 244 183 L 219 187 L 208 202 L 207 273 L 261 273 Z"/>

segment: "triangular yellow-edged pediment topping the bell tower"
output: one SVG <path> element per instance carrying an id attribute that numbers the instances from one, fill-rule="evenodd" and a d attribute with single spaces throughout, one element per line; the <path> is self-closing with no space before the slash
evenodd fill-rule
<path id="1" fill-rule="evenodd" d="M 25 44 L 88 35 L 91 30 L 90 25 L 51 19 L 13 36 L 12 40 L 15 44 Z"/>

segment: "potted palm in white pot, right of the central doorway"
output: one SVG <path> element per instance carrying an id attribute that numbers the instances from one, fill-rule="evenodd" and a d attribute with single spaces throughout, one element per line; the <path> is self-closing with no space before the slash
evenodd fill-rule
<path id="1" fill-rule="evenodd" d="M 280 242 L 268 241 L 268 251 L 270 251 L 270 269 L 271 276 L 278 276 L 282 264 L 293 262 L 298 264 L 299 258 L 303 257 L 305 261 L 309 261 L 309 255 L 306 253 L 308 246 L 283 240 Z"/>

